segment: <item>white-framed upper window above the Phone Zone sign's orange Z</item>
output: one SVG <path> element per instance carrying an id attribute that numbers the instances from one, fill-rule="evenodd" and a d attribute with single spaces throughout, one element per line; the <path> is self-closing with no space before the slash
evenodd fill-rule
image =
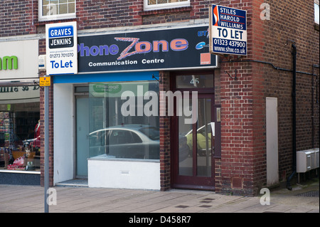
<path id="1" fill-rule="evenodd" d="M 144 10 L 171 9 L 190 6 L 190 0 L 144 0 Z"/>

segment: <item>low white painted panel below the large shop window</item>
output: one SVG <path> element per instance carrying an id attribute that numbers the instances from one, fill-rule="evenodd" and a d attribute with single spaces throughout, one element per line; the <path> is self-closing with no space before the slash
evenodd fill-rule
<path id="1" fill-rule="evenodd" d="M 88 159 L 88 186 L 160 190 L 160 162 Z"/>

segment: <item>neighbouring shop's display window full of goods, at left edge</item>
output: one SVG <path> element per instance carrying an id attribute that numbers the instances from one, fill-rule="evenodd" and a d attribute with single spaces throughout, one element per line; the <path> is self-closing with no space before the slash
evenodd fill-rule
<path id="1" fill-rule="evenodd" d="M 0 92 L 0 170 L 40 171 L 38 86 L 2 87 Z"/>

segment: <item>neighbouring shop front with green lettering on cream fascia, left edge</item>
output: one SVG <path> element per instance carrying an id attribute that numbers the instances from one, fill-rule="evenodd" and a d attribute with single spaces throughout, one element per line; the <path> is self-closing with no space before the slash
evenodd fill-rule
<path id="1" fill-rule="evenodd" d="M 0 184 L 40 184 L 38 40 L 0 49 Z"/>

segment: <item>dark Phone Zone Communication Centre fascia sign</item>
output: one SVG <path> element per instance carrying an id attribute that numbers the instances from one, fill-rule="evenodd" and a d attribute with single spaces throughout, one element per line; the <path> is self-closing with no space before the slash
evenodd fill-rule
<path id="1" fill-rule="evenodd" d="M 78 36 L 78 72 L 215 68 L 208 26 Z"/>

